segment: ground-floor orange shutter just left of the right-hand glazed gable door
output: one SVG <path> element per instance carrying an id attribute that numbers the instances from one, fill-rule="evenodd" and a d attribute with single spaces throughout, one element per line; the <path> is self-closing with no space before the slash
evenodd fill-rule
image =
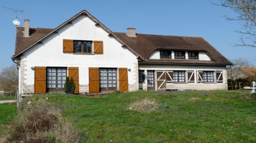
<path id="1" fill-rule="evenodd" d="M 100 92 L 99 68 L 89 67 L 89 93 Z"/>

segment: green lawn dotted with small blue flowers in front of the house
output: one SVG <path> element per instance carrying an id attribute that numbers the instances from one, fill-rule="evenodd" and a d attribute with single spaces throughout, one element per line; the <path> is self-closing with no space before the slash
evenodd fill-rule
<path id="1" fill-rule="evenodd" d="M 112 93 L 104 98 L 48 94 L 80 132 L 83 142 L 256 142 L 255 99 L 246 91 Z M 129 110 L 144 98 L 153 112 Z"/>

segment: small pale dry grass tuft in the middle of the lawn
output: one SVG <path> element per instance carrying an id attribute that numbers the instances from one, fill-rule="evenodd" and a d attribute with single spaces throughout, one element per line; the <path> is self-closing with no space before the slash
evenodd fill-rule
<path id="1" fill-rule="evenodd" d="M 154 100 L 149 100 L 147 98 L 136 101 L 132 103 L 129 107 L 130 110 L 142 111 L 142 112 L 151 112 L 157 110 L 159 105 Z"/>

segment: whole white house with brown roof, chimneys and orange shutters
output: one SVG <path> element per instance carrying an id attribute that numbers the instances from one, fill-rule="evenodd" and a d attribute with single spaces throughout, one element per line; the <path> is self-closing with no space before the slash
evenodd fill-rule
<path id="1" fill-rule="evenodd" d="M 19 92 L 227 89 L 232 65 L 201 37 L 112 32 L 86 10 L 55 29 L 16 27 Z"/>

